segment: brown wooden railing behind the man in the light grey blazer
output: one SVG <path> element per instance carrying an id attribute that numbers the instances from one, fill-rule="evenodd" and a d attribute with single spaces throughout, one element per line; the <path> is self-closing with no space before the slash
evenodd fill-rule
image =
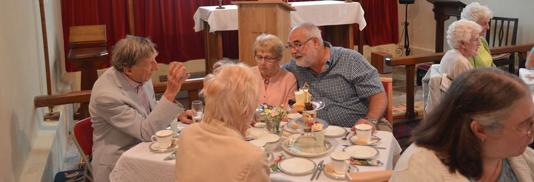
<path id="1" fill-rule="evenodd" d="M 180 90 L 187 91 L 189 102 L 198 100 L 199 90 L 204 87 L 204 78 L 193 78 L 186 80 Z M 162 93 L 167 89 L 167 82 L 154 83 L 154 92 Z M 91 99 L 91 90 L 83 90 L 68 93 L 50 94 L 44 96 L 36 96 L 34 98 L 35 108 L 57 106 L 64 104 L 80 103 L 81 118 L 89 117 L 88 105 Z"/>

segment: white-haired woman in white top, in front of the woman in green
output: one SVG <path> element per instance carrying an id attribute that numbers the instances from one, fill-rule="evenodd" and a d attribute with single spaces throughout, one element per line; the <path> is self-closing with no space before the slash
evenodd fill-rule
<path id="1" fill-rule="evenodd" d="M 441 59 L 439 73 L 449 75 L 451 80 L 466 70 L 472 69 L 468 58 L 478 55 L 480 32 L 482 27 L 474 21 L 459 20 L 453 22 L 447 30 L 447 43 L 451 50 Z"/>

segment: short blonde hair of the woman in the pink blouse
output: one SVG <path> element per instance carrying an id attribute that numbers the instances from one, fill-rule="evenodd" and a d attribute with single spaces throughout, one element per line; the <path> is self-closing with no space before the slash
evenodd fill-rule
<path id="1" fill-rule="evenodd" d="M 252 51 L 254 52 L 254 55 L 256 55 L 257 52 L 267 52 L 280 58 L 281 56 L 284 56 L 284 44 L 277 36 L 262 34 L 256 37 Z"/>

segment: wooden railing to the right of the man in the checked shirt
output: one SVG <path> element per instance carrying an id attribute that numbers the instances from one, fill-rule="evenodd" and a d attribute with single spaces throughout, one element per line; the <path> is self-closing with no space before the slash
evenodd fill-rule
<path id="1" fill-rule="evenodd" d="M 501 53 L 517 53 L 517 58 L 523 60 L 527 57 L 527 52 L 532 49 L 534 43 L 532 44 L 522 44 L 522 45 L 512 45 L 512 46 L 502 46 L 497 48 L 491 48 L 491 54 L 501 54 Z M 435 62 L 439 63 L 441 58 L 445 55 L 444 52 L 428 54 L 423 56 L 407 56 L 399 58 L 386 58 L 386 65 L 388 66 L 400 66 L 404 65 L 406 69 L 406 114 L 405 117 L 412 119 L 415 118 L 414 112 L 414 94 L 415 94 L 415 65 L 422 64 L 426 62 Z M 371 60 L 371 62 L 381 62 L 385 56 L 391 56 L 391 54 L 384 52 L 372 52 L 371 58 L 378 60 Z"/>

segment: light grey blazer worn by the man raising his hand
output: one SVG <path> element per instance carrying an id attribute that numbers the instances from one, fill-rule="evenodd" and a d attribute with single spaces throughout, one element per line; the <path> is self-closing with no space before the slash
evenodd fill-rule
<path id="1" fill-rule="evenodd" d="M 151 141 L 156 131 L 165 129 L 183 106 L 162 98 L 156 102 L 152 80 L 143 85 L 150 114 L 132 86 L 114 67 L 109 68 L 93 85 L 89 113 L 93 130 L 93 178 L 109 181 L 109 173 L 124 151 Z"/>

